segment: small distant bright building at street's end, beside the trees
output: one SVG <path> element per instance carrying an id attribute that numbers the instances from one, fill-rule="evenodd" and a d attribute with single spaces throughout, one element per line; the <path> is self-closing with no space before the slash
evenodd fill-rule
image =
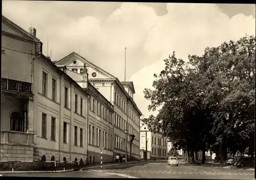
<path id="1" fill-rule="evenodd" d="M 167 158 L 167 138 L 163 137 L 162 132 L 151 132 L 147 124 L 140 121 L 140 149 L 146 150 L 147 140 L 147 159 Z M 149 158 L 149 154 L 151 157 Z M 144 154 L 143 154 L 144 156 Z M 143 158 L 142 156 L 142 158 Z"/>

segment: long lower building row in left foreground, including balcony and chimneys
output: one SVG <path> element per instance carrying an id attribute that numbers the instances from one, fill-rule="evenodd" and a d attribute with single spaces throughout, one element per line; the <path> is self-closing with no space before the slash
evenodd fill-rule
<path id="1" fill-rule="evenodd" d="M 112 162 L 114 106 L 88 74 L 79 85 L 41 52 L 34 28 L 28 33 L 2 16 L 1 161 L 93 163 L 102 150 Z M 93 100 L 105 116 L 88 110 Z"/>

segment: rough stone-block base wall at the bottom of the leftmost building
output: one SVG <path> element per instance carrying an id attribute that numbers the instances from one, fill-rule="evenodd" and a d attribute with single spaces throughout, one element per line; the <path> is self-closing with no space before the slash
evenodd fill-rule
<path id="1" fill-rule="evenodd" d="M 1 161 L 33 161 L 33 145 L 0 145 Z"/>

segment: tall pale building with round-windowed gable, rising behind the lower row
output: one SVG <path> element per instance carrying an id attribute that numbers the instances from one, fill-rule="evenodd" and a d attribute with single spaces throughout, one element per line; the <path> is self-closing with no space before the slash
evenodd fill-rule
<path id="1" fill-rule="evenodd" d="M 83 82 L 82 75 L 86 64 L 89 81 L 114 105 L 114 154 L 125 155 L 127 147 L 129 159 L 131 156 L 140 159 L 139 132 L 142 114 L 133 100 L 135 93 L 133 82 L 120 82 L 118 78 L 74 52 L 55 61 L 55 64 L 59 67 L 66 66 L 68 74 L 80 85 Z M 101 108 L 96 102 L 92 107 Z M 97 116 L 101 115 L 97 114 Z"/>

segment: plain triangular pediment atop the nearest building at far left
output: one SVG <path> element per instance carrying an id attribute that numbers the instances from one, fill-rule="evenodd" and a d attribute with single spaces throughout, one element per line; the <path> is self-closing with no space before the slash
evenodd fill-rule
<path id="1" fill-rule="evenodd" d="M 9 20 L 3 15 L 2 15 L 2 32 L 6 32 L 8 34 L 16 35 L 19 37 L 33 40 L 33 41 L 40 41 L 38 38 L 34 37 L 29 32 L 20 28 L 18 25 L 16 25 L 14 22 L 12 22 L 11 20 Z"/>

